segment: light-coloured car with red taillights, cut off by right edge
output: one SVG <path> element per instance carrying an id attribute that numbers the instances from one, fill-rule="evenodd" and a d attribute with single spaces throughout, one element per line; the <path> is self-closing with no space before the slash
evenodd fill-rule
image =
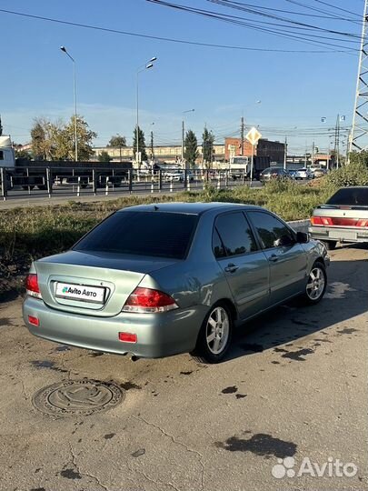
<path id="1" fill-rule="evenodd" d="M 343 187 L 317 206 L 309 233 L 327 249 L 337 242 L 368 242 L 368 186 Z"/>

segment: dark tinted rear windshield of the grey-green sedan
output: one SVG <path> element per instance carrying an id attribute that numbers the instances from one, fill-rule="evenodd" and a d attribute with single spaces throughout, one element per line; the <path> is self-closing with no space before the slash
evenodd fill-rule
<path id="1" fill-rule="evenodd" d="M 184 259 L 197 221 L 197 215 L 117 212 L 85 235 L 73 250 Z"/>

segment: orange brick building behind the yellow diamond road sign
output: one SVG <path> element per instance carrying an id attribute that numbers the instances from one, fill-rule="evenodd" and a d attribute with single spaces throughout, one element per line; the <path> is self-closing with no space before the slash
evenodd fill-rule
<path id="1" fill-rule="evenodd" d="M 242 140 L 241 138 L 225 138 L 225 160 L 230 160 L 231 156 L 235 155 L 252 155 L 252 145 L 248 140 L 244 139 L 244 148 L 242 153 Z M 258 140 L 258 144 L 254 145 L 254 155 L 269 156 L 270 162 L 275 162 L 279 165 L 283 164 L 283 158 L 285 153 L 285 145 L 281 142 L 273 142 L 266 138 Z"/>

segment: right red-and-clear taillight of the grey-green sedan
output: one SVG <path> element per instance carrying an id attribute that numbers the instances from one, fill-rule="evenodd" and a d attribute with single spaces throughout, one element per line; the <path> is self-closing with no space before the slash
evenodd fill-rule
<path id="1" fill-rule="evenodd" d="M 155 313 L 178 308 L 174 298 L 152 288 L 138 286 L 128 297 L 123 307 L 124 312 Z"/>

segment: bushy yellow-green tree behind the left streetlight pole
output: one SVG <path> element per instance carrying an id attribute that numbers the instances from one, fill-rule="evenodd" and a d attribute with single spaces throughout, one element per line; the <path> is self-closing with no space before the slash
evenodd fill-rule
<path id="1" fill-rule="evenodd" d="M 76 116 L 78 160 L 89 160 L 94 154 L 92 141 L 97 136 L 89 129 L 83 116 Z M 46 118 L 36 118 L 31 130 L 32 151 L 35 160 L 75 159 L 75 116 L 69 122 L 52 123 Z"/>

